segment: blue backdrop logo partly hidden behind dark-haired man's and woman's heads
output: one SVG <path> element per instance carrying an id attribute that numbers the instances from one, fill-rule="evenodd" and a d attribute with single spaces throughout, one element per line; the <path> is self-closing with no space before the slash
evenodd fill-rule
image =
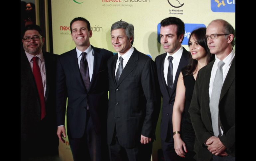
<path id="1" fill-rule="evenodd" d="M 185 34 L 184 34 L 184 39 L 182 41 L 182 45 L 188 45 L 188 40 L 192 31 L 201 27 L 206 27 L 206 26 L 204 24 L 185 24 Z M 161 24 L 159 23 L 157 25 L 157 41 L 159 43 L 161 43 L 160 28 L 161 28 Z"/>

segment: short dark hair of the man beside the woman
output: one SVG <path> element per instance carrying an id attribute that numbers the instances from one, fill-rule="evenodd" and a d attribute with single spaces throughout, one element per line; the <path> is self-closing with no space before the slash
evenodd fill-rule
<path id="1" fill-rule="evenodd" d="M 176 25 L 177 26 L 177 39 L 179 38 L 180 35 L 184 35 L 185 34 L 185 25 L 184 22 L 177 18 L 177 17 L 168 17 L 165 18 L 164 20 L 161 21 L 161 26 L 165 27 L 165 26 L 169 26 L 169 25 Z M 184 39 L 184 37 L 183 37 Z M 182 39 L 182 41 L 183 41 Z M 182 43 L 181 41 L 181 43 Z"/>

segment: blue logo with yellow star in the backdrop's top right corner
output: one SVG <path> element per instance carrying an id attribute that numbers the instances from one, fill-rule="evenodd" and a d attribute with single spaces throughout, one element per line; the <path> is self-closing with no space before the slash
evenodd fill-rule
<path id="1" fill-rule="evenodd" d="M 211 0 L 212 12 L 235 12 L 235 0 Z"/>

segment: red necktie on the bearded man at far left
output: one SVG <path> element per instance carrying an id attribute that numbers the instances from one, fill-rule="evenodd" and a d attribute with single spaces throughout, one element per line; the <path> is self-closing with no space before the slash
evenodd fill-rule
<path id="1" fill-rule="evenodd" d="M 38 57 L 34 56 L 32 58 L 33 60 L 33 75 L 37 84 L 37 90 L 38 90 L 38 95 L 40 98 L 40 104 L 41 104 L 41 120 L 44 119 L 46 115 L 45 111 L 45 97 L 44 97 L 44 87 L 43 87 L 43 81 L 42 81 L 42 76 L 40 72 L 40 68 L 37 64 L 37 59 Z"/>

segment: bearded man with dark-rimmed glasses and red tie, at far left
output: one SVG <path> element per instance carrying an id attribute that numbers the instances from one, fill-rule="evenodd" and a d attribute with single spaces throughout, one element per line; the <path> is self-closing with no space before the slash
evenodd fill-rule
<path id="1" fill-rule="evenodd" d="M 56 62 L 58 55 L 43 52 L 45 38 L 38 25 L 23 32 L 21 49 L 21 160 L 54 158 L 56 136 Z"/>

